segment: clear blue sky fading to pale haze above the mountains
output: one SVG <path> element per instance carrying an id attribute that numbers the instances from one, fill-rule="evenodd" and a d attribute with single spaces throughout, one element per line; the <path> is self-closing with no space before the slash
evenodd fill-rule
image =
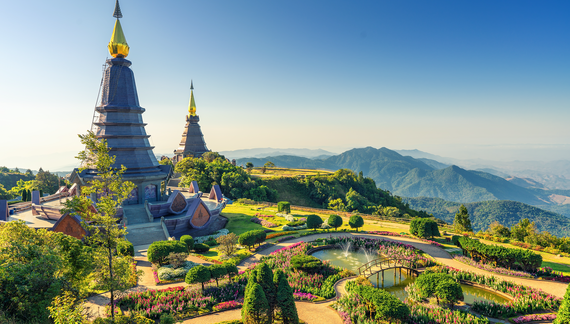
<path id="1" fill-rule="evenodd" d="M 155 153 L 190 80 L 208 147 L 570 159 L 568 1 L 122 0 Z M 68 170 L 114 1 L 4 1 L 0 165 Z"/>

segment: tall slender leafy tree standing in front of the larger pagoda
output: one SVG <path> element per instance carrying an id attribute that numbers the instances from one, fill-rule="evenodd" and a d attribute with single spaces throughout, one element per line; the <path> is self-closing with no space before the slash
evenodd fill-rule
<path id="1" fill-rule="evenodd" d="M 130 256 L 118 255 L 117 245 L 123 241 L 127 231 L 117 225 L 114 217 L 117 207 L 129 197 L 135 188 L 130 181 L 123 181 L 125 166 L 114 168 L 115 156 L 109 154 L 110 148 L 106 140 L 99 140 L 93 132 L 79 135 L 85 150 L 79 152 L 77 159 L 81 160 L 80 169 L 95 169 L 97 177 L 90 180 L 82 188 L 82 196 L 73 197 L 66 202 L 64 212 L 70 211 L 80 215 L 83 226 L 89 232 L 86 242 L 93 248 L 93 258 L 96 268 L 94 270 L 98 289 L 109 290 L 111 293 L 111 316 L 115 320 L 115 291 L 129 288 L 132 276 L 131 266 L 133 259 Z M 92 201 L 88 198 L 96 194 L 97 212 L 91 208 Z M 85 221 L 90 221 L 87 223 Z"/>

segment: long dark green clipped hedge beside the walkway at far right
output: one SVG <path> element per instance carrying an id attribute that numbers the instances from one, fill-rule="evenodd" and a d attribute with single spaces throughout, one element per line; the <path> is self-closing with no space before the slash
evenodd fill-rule
<path id="1" fill-rule="evenodd" d="M 461 237 L 458 239 L 461 249 L 469 252 L 472 258 L 485 263 L 495 263 L 503 268 L 520 268 L 526 272 L 536 272 L 542 264 L 542 255 L 530 250 L 487 245 L 477 240 Z"/>

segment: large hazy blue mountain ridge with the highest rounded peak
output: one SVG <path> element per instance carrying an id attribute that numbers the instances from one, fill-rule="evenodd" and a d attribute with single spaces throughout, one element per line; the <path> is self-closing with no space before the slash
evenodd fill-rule
<path id="1" fill-rule="evenodd" d="M 261 166 L 267 161 L 288 168 L 362 171 L 374 179 L 379 188 L 404 197 L 437 197 L 461 203 L 485 200 L 513 200 L 531 205 L 554 203 L 544 190 L 524 188 L 482 171 L 465 170 L 455 165 L 445 167 L 425 157 L 403 156 L 384 147 L 356 148 L 324 160 L 281 155 L 263 159 L 242 158 L 237 163 L 245 165 L 252 162 Z"/>

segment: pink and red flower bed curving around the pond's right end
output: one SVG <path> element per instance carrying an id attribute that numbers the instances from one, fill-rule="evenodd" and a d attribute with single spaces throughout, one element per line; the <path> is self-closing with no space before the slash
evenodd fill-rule
<path id="1" fill-rule="evenodd" d="M 506 304 L 475 301 L 473 310 L 485 316 L 507 318 L 517 313 L 524 315 L 545 310 L 556 311 L 562 302 L 560 298 L 547 294 L 542 290 L 505 281 L 492 275 L 479 275 L 448 266 L 435 266 L 428 270 L 448 273 L 455 279 L 478 283 L 513 297 L 513 300 Z"/>

